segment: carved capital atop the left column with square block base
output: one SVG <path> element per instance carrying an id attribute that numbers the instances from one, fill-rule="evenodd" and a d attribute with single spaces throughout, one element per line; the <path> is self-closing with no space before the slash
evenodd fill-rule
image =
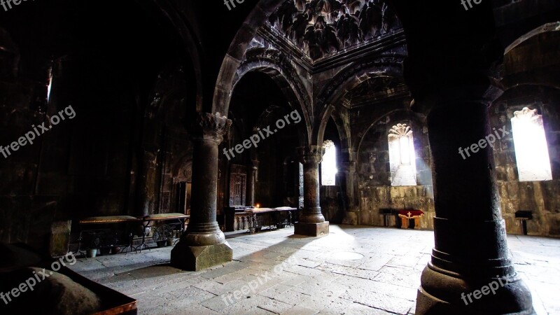
<path id="1" fill-rule="evenodd" d="M 193 124 L 190 126 L 190 133 L 194 140 L 214 141 L 221 144 L 223 135 L 230 130 L 232 121 L 220 113 L 198 113 Z"/>

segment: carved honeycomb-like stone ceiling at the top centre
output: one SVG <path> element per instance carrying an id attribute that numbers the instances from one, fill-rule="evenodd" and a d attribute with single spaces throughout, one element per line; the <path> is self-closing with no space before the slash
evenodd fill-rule
<path id="1" fill-rule="evenodd" d="M 286 0 L 269 22 L 313 60 L 359 47 L 401 27 L 393 10 L 380 0 Z"/>

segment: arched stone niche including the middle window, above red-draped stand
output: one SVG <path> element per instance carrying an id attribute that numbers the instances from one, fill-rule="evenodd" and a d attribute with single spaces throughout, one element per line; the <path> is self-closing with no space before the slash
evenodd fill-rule
<path id="1" fill-rule="evenodd" d="M 357 166 L 360 224 L 383 226 L 381 209 L 419 209 L 425 213 L 421 228 L 433 229 L 435 208 L 428 132 L 423 123 L 412 117 L 412 113 L 403 111 L 380 119 L 363 137 Z M 402 146 L 407 147 L 401 150 Z M 414 169 L 408 181 L 398 179 L 402 165 L 408 166 L 407 171 Z M 388 224 L 396 225 L 395 216 L 389 218 Z"/>

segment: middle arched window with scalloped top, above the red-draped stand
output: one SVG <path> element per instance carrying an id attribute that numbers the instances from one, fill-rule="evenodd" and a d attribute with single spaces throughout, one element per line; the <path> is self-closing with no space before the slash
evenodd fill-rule
<path id="1" fill-rule="evenodd" d="M 391 186 L 416 186 L 412 129 L 407 124 L 397 124 L 389 130 L 388 141 Z"/>

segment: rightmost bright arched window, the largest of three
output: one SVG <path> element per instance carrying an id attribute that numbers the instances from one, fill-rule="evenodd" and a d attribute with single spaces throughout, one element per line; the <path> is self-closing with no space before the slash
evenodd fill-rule
<path id="1" fill-rule="evenodd" d="M 552 181 L 542 115 L 527 107 L 513 114 L 512 132 L 519 181 Z"/>

